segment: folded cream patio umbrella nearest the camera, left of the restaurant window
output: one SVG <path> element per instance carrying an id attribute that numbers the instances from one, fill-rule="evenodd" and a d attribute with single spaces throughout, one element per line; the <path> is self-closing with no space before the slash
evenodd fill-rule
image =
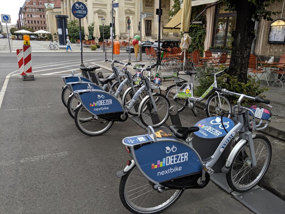
<path id="1" fill-rule="evenodd" d="M 182 17 L 181 17 L 181 32 L 183 36 L 181 38 L 180 48 L 184 48 L 184 60 L 183 60 L 183 72 L 185 71 L 185 61 L 186 61 L 186 50 L 189 48 L 191 43 L 191 37 L 189 37 L 188 32 L 190 26 L 190 17 L 191 17 L 191 0 L 184 0 L 182 7 Z"/>

